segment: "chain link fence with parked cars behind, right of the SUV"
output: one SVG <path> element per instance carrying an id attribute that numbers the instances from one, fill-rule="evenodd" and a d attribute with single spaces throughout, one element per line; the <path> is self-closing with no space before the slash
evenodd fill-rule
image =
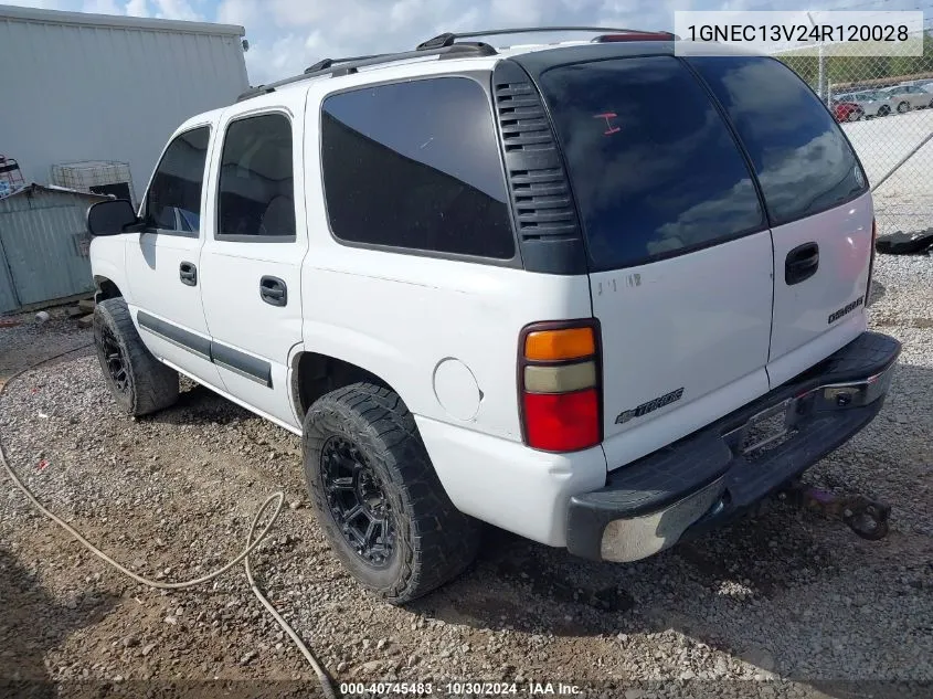
<path id="1" fill-rule="evenodd" d="M 933 30 L 919 39 L 923 55 L 851 55 L 846 44 L 775 54 L 826 102 L 855 146 L 879 234 L 933 226 Z"/>

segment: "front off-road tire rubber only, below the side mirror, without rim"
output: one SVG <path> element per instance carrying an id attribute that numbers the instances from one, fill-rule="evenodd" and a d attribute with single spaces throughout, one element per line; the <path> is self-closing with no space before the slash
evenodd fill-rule
<path id="1" fill-rule="evenodd" d="M 120 390 L 110 375 L 104 354 L 103 338 L 107 331 L 119 347 L 127 375 L 125 390 Z M 178 372 L 156 359 L 142 343 L 123 298 L 108 298 L 95 306 L 94 345 L 104 381 L 121 412 L 148 415 L 169 407 L 178 400 Z"/>

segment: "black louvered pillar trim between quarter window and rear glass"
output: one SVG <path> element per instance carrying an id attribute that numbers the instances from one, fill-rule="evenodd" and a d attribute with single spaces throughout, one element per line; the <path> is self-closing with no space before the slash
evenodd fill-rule
<path id="1" fill-rule="evenodd" d="M 576 206 L 538 88 L 521 66 L 501 61 L 492 92 L 524 268 L 586 274 Z"/>

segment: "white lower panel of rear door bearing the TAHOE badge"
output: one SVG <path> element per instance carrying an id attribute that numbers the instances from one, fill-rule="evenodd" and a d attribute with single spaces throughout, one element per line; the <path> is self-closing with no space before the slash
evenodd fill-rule
<path id="1" fill-rule="evenodd" d="M 763 231 L 590 275 L 603 336 L 603 447 L 611 469 L 767 392 L 772 267 L 771 234 Z M 623 411 L 681 388 L 679 401 L 615 423 Z M 700 400 L 702 409 L 693 405 Z"/>

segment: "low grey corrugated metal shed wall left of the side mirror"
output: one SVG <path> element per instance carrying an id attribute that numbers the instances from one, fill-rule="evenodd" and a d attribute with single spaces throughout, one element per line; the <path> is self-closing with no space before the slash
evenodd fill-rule
<path id="1" fill-rule="evenodd" d="M 0 266 L 12 298 L 0 309 L 47 301 L 94 288 L 86 246 L 87 208 L 103 198 L 31 188 L 0 200 Z M 0 273 L 0 289 L 2 289 Z M 3 308 L 3 305 L 8 306 Z"/>

